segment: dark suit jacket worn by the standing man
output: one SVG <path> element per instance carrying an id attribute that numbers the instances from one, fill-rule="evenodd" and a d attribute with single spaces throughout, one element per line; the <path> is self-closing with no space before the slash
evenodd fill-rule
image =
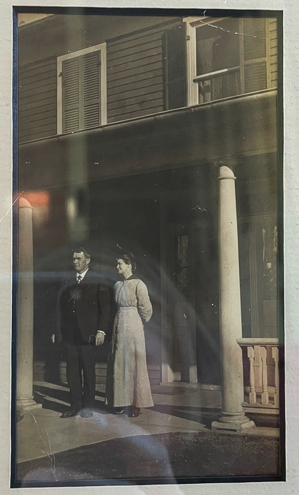
<path id="1" fill-rule="evenodd" d="M 74 317 L 78 322 L 82 339 L 94 342 L 98 330 L 108 335 L 111 326 L 111 291 L 107 282 L 90 269 L 78 285 L 76 272 L 66 279 L 59 292 L 55 321 L 55 340 L 69 341 Z"/>

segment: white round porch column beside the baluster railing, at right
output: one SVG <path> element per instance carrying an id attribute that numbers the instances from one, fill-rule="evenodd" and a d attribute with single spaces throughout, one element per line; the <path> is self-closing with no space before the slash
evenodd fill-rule
<path id="1" fill-rule="evenodd" d="M 238 230 L 233 171 L 219 167 L 219 322 L 222 381 L 222 411 L 212 429 L 240 431 L 255 426 L 245 416 L 242 350 L 241 297 Z"/>

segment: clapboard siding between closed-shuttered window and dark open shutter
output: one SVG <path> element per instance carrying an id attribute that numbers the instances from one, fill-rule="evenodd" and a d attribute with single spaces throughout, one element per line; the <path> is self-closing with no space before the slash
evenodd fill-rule
<path id="1" fill-rule="evenodd" d="M 108 122 L 164 110 L 162 36 L 177 23 L 107 43 Z"/>

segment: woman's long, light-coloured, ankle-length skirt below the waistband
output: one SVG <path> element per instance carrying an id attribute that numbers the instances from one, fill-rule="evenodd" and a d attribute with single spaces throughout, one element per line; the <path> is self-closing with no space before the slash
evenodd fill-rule
<path id="1" fill-rule="evenodd" d="M 136 307 L 120 307 L 115 317 L 107 365 L 106 403 L 113 407 L 154 405 L 143 324 Z"/>

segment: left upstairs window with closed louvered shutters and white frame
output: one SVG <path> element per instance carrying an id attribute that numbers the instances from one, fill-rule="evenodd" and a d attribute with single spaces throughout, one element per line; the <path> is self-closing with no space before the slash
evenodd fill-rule
<path id="1" fill-rule="evenodd" d="M 57 58 L 57 134 L 107 122 L 106 44 Z"/>

